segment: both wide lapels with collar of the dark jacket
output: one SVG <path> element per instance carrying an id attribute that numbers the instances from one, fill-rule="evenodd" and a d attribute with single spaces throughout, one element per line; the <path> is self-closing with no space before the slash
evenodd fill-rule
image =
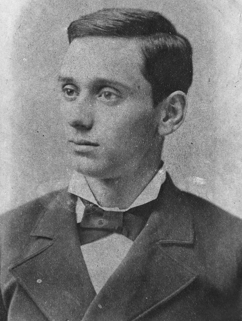
<path id="1" fill-rule="evenodd" d="M 146 227 L 95 295 L 79 247 L 76 197 L 63 190 L 41 214 L 31 232 L 33 242 L 11 271 L 50 320 L 138 320 L 196 277 L 165 246 L 187 246 L 190 255 L 193 223 L 182 202 L 182 192 L 168 175 Z"/>

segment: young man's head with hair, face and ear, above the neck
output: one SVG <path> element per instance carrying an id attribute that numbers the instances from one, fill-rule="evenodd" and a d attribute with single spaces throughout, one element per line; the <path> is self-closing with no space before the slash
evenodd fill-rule
<path id="1" fill-rule="evenodd" d="M 107 9 L 68 28 L 60 82 L 76 169 L 115 178 L 156 169 L 186 111 L 191 47 L 158 13 Z"/>

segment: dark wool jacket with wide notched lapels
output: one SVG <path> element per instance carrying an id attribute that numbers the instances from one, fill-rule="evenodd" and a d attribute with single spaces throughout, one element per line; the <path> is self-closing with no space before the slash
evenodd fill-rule
<path id="1" fill-rule="evenodd" d="M 75 203 L 65 189 L 1 217 L 1 320 L 242 320 L 239 218 L 168 176 L 146 227 L 96 295 Z"/>

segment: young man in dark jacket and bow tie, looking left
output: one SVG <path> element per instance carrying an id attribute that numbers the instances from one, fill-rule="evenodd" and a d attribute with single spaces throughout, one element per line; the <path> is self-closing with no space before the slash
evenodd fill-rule
<path id="1" fill-rule="evenodd" d="M 164 136 L 186 114 L 192 51 L 159 13 L 68 28 L 59 75 L 68 189 L 1 219 L 2 320 L 242 320 L 242 222 L 176 188 Z"/>

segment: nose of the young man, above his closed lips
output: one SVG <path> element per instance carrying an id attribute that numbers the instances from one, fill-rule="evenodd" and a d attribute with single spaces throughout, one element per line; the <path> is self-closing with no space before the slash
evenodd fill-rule
<path id="1" fill-rule="evenodd" d="M 90 130 L 94 124 L 91 101 L 84 95 L 78 96 L 69 109 L 68 124 L 79 131 Z"/>

